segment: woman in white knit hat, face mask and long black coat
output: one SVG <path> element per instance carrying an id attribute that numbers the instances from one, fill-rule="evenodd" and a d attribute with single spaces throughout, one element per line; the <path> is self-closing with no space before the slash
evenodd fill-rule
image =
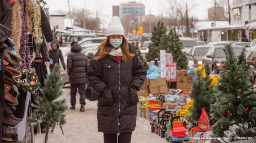
<path id="1" fill-rule="evenodd" d="M 130 143 L 136 127 L 137 91 L 146 69 L 127 43 L 118 17 L 110 20 L 106 36 L 87 72 L 91 87 L 99 94 L 98 131 L 104 133 L 104 143 Z"/>

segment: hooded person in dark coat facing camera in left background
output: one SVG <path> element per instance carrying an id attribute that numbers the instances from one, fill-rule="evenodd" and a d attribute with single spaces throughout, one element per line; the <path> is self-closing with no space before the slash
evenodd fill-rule
<path id="1" fill-rule="evenodd" d="M 60 61 L 61 61 L 62 67 L 64 68 L 64 70 L 66 70 L 66 65 L 64 63 L 63 55 L 62 55 L 61 50 L 59 49 L 58 40 L 53 40 L 51 42 L 51 47 L 52 47 L 52 49 L 50 50 L 49 57 L 50 57 L 50 59 L 52 59 L 53 62 L 50 65 L 50 71 L 52 72 L 54 64 L 60 63 Z"/>

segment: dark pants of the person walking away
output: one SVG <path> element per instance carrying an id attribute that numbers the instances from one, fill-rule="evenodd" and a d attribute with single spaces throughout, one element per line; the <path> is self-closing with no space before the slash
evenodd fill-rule
<path id="1" fill-rule="evenodd" d="M 80 104 L 84 104 L 85 105 L 85 98 L 86 98 L 86 94 L 85 94 L 85 84 L 70 84 L 70 95 L 71 95 L 71 105 L 75 105 L 76 104 L 76 91 L 78 88 L 78 92 L 80 94 Z"/>

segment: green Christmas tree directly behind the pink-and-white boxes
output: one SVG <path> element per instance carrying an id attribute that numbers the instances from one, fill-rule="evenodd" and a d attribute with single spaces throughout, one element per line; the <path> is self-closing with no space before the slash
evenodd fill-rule
<path id="1" fill-rule="evenodd" d="M 182 52 L 183 49 L 182 42 L 179 39 L 179 35 L 177 35 L 175 29 L 173 34 L 169 36 L 169 46 L 167 49 L 167 53 L 172 53 L 173 62 L 177 63 L 177 70 L 188 69 L 188 58 L 185 52 Z"/>

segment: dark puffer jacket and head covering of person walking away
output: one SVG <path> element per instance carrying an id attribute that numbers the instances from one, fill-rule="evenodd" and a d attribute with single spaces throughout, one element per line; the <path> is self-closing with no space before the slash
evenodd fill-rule
<path id="1" fill-rule="evenodd" d="M 86 82 L 86 72 L 89 66 L 88 59 L 81 53 L 81 46 L 75 43 L 67 58 L 67 72 L 70 84 L 83 84 Z"/>

